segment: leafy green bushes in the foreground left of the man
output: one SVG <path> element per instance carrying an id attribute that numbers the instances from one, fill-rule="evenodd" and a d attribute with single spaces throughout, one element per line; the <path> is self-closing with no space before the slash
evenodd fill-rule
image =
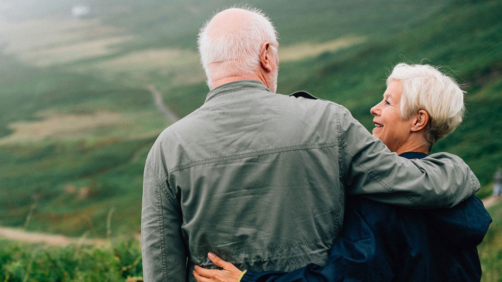
<path id="1" fill-rule="evenodd" d="M 0 240 L 0 281 L 143 281 L 139 242 L 65 247 Z"/>

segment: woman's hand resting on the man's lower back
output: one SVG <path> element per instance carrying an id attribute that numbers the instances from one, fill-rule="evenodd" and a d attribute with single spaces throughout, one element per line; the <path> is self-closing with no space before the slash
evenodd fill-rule
<path id="1" fill-rule="evenodd" d="M 216 264 L 217 266 L 223 269 L 206 269 L 195 265 L 193 270 L 193 276 L 197 279 L 198 282 L 237 282 L 241 278 L 240 275 L 242 271 L 240 271 L 235 265 L 230 262 L 226 262 L 214 253 L 210 252 L 207 254 L 207 257 Z"/>

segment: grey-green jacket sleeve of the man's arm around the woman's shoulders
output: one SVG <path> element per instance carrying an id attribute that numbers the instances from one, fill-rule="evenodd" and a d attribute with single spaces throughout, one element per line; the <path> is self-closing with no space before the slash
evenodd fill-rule
<path id="1" fill-rule="evenodd" d="M 451 207 L 479 190 L 479 181 L 457 156 L 432 154 L 407 160 L 373 137 L 340 106 L 340 167 L 349 195 L 415 208 Z"/>

